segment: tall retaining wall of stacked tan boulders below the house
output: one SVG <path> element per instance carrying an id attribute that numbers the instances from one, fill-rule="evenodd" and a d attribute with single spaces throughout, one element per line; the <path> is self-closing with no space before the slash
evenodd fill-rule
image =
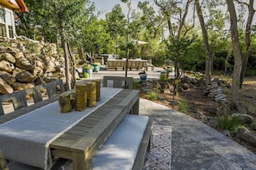
<path id="1" fill-rule="evenodd" d="M 0 39 L 0 94 L 33 88 L 52 73 L 63 76 L 63 63 L 54 44 L 22 37 Z"/>

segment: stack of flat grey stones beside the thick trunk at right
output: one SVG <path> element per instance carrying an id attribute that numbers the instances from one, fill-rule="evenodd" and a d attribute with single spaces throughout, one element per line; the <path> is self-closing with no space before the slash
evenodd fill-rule
<path id="1" fill-rule="evenodd" d="M 224 87 L 230 88 L 228 82 L 215 78 L 207 85 L 204 94 L 208 95 L 210 99 L 213 99 L 219 103 L 228 104 L 227 96 L 222 92 L 222 88 Z"/>

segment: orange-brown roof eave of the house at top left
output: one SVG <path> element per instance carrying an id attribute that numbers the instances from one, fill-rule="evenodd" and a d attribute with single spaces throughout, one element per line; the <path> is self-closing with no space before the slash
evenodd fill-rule
<path id="1" fill-rule="evenodd" d="M 0 5 L 16 12 L 28 12 L 28 8 L 23 0 L 16 0 L 15 2 L 11 0 L 0 0 Z"/>

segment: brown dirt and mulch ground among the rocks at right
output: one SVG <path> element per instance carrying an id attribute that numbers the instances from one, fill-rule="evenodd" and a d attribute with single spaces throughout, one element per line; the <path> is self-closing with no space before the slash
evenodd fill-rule
<path id="1" fill-rule="evenodd" d="M 160 94 L 160 99 L 165 100 L 157 100 L 156 102 L 178 110 L 178 104 L 175 101 L 186 100 L 189 104 L 189 109 L 184 113 L 193 118 L 197 118 L 199 121 L 203 121 L 203 118 L 206 118 L 210 122 L 211 119 L 215 119 L 219 104 L 215 102 L 215 100 L 210 100 L 208 96 L 204 95 L 204 90 L 205 88 L 190 88 L 189 90 L 179 93 L 178 96 L 175 96 L 174 98 L 172 94 Z M 222 90 L 223 93 L 227 95 L 228 100 L 230 100 L 231 88 L 223 88 Z M 256 121 L 256 77 L 245 78 L 243 87 L 240 90 L 240 100 L 247 106 L 248 114 L 253 116 L 254 121 Z M 217 131 L 221 131 L 216 127 L 216 124 L 209 123 L 209 125 Z M 237 138 L 232 139 L 256 154 L 256 146 L 240 141 Z"/>

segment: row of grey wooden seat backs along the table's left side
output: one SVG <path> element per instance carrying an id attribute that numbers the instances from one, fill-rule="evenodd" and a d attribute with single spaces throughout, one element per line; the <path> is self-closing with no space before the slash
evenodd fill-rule
<path id="1" fill-rule="evenodd" d="M 28 106 L 27 97 L 30 96 L 34 103 L 43 100 L 42 91 L 46 91 L 47 98 L 52 98 L 59 93 L 65 91 L 64 84 L 61 80 L 48 82 L 46 84 L 37 85 L 34 88 L 28 88 L 21 91 L 16 91 L 12 94 L 0 95 L 0 116 L 6 114 L 4 112 L 3 103 L 10 102 L 14 111 Z"/>

